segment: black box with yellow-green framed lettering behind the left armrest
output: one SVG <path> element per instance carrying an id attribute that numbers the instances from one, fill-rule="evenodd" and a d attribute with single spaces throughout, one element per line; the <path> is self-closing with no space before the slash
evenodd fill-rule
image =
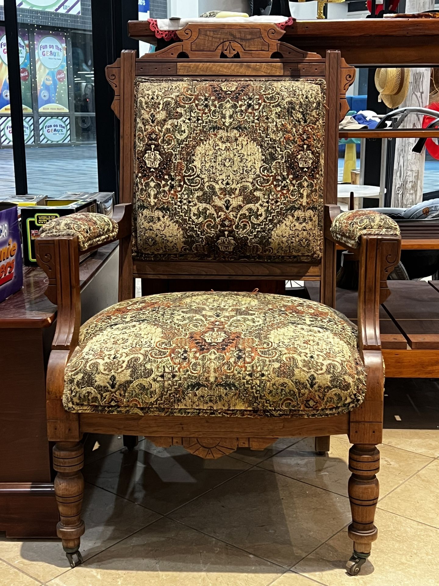
<path id="1" fill-rule="evenodd" d="M 21 227 L 23 234 L 23 262 L 28 267 L 36 265 L 35 240 L 39 230 L 50 220 L 75 212 L 96 212 L 96 200 L 47 199 L 45 206 L 22 207 Z"/>

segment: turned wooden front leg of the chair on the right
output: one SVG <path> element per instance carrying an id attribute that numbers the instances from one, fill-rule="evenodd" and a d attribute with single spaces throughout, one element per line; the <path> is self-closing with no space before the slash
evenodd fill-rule
<path id="1" fill-rule="evenodd" d="M 367 557 L 371 553 L 372 541 L 378 536 L 373 524 L 376 503 L 379 496 L 379 451 L 375 445 L 355 444 L 349 449 L 349 470 L 352 472 L 348 483 L 352 523 L 348 535 L 354 541 L 354 552 Z"/>

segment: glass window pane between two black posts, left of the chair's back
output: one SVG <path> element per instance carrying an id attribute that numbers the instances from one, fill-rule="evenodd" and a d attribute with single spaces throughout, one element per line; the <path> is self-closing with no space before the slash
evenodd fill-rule
<path id="1" fill-rule="evenodd" d="M 97 190 L 91 0 L 68 0 L 65 11 L 35 11 L 30 4 L 38 2 L 26 2 L 29 9 L 19 12 L 29 47 L 28 191 Z"/>

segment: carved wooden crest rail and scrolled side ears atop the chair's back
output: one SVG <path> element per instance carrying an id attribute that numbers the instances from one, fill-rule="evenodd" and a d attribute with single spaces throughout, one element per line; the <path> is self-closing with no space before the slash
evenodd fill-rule
<path id="1" fill-rule="evenodd" d="M 180 42 L 136 59 L 135 75 L 325 77 L 325 59 L 282 42 L 284 31 L 273 24 L 192 23 L 177 35 Z M 120 117 L 121 60 L 108 65 L 106 74 L 115 94 L 112 109 Z M 354 80 L 355 67 L 341 59 L 339 120 L 349 110 L 346 92 Z"/>

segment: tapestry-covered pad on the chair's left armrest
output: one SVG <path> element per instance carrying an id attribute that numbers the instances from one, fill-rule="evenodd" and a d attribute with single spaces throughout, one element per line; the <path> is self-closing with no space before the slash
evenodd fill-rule
<path id="1" fill-rule="evenodd" d="M 50 220 L 40 228 L 40 236 L 77 236 L 79 250 L 87 250 L 97 244 L 116 238 L 118 224 L 103 214 L 78 212 Z"/>

